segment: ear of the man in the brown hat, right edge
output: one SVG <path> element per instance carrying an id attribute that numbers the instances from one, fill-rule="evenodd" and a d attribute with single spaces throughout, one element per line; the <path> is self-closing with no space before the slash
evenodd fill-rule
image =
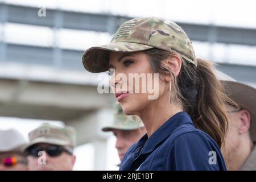
<path id="1" fill-rule="evenodd" d="M 244 134 L 250 129 L 250 121 L 251 121 L 251 116 L 249 111 L 243 109 L 239 111 L 238 117 L 240 119 L 240 125 L 239 125 L 239 134 Z"/>

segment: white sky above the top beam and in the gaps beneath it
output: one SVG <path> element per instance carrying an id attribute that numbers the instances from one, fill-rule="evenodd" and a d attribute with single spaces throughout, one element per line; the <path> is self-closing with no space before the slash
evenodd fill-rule
<path id="1" fill-rule="evenodd" d="M 1 1 L 1 0 L 0 0 Z M 3 1 L 3 0 L 2 0 Z M 60 0 L 5 0 L 26 6 L 59 8 L 64 10 L 82 11 L 90 13 L 112 13 L 128 16 L 160 16 L 178 22 L 192 22 L 256 28 L 256 11 L 253 0 L 245 1 L 151 1 L 151 0 L 94 0 L 94 1 L 60 1 Z M 86 3 L 88 2 L 88 3 Z M 5 31 L 6 42 L 30 44 L 37 46 L 52 46 L 55 42 L 51 28 L 31 26 L 16 23 L 0 25 Z M 22 35 L 22 36 L 20 36 Z M 112 35 L 104 32 L 61 29 L 57 31 L 57 44 L 61 48 L 85 50 L 92 46 L 109 43 Z M 256 39 L 256 38 L 255 38 Z M 86 41 L 85 41 L 86 40 Z M 256 47 L 214 44 L 193 41 L 197 57 L 212 59 L 216 62 L 228 62 L 256 65 Z M 213 55 L 212 57 L 210 55 Z"/>

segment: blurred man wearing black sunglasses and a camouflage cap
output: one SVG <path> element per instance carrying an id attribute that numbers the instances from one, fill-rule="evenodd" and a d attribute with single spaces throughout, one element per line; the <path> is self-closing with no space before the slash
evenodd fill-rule
<path id="1" fill-rule="evenodd" d="M 72 127 L 57 127 L 44 123 L 29 133 L 30 142 L 24 147 L 30 171 L 71 171 L 76 162 L 76 143 Z M 44 152 L 42 152 L 44 151 Z"/>

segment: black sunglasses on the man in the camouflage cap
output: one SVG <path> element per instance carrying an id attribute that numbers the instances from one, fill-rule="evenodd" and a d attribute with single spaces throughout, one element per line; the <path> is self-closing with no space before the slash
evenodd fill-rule
<path id="1" fill-rule="evenodd" d="M 42 147 L 40 145 L 35 145 L 35 146 L 28 147 L 27 155 L 39 157 L 40 151 L 45 151 L 51 157 L 59 156 L 62 154 L 62 152 L 66 152 L 69 155 L 73 154 L 71 148 L 64 148 L 62 146 L 56 146 L 56 145 L 49 145 L 46 147 Z"/>

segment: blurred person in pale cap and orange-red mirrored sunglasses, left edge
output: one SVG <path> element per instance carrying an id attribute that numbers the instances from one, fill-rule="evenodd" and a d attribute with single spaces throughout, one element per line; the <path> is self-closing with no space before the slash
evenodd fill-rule
<path id="1" fill-rule="evenodd" d="M 21 150 L 25 144 L 15 129 L 0 130 L 0 171 L 27 170 L 27 159 Z"/>

